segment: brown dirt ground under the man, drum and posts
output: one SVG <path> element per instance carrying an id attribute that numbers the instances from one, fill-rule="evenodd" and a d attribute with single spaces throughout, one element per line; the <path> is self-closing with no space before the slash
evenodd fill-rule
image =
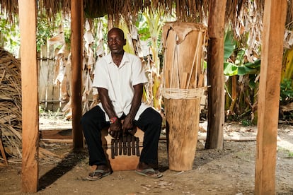
<path id="1" fill-rule="evenodd" d="M 168 170 L 166 140 L 159 142 L 160 179 L 117 171 L 95 182 L 88 175 L 87 149 L 71 152 L 71 143 L 51 143 L 46 148 L 62 154 L 60 160 L 40 160 L 36 194 L 253 194 L 256 126 L 225 124 L 224 148 L 205 149 L 206 122 L 200 123 L 193 170 Z M 247 140 L 247 141 L 239 141 Z M 276 194 L 293 194 L 293 127 L 280 124 L 277 138 Z M 1 160 L 0 160 L 1 162 Z M 21 162 L 9 159 L 0 166 L 0 194 L 21 193 Z"/>

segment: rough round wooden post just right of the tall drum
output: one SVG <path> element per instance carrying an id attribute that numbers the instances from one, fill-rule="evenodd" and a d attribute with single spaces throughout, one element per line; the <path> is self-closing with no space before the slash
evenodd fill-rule
<path id="1" fill-rule="evenodd" d="M 226 0 L 209 1 L 207 50 L 208 119 L 205 148 L 223 148 L 224 143 L 224 18 Z"/>

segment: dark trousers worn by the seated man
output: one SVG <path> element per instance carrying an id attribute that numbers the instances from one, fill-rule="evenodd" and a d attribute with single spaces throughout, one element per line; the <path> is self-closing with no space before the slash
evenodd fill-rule
<path id="1" fill-rule="evenodd" d="M 149 165 L 158 163 L 158 143 L 161 133 L 162 117 L 159 112 L 149 107 L 140 115 L 134 125 L 144 131 L 144 141 L 139 162 Z M 101 130 L 109 126 L 105 113 L 99 106 L 93 107 L 81 118 L 81 126 L 88 145 L 89 165 L 108 165 L 102 147 Z"/>

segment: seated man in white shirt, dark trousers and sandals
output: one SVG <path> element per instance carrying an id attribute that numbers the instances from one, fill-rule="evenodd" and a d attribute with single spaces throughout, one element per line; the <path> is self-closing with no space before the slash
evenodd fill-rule
<path id="1" fill-rule="evenodd" d="M 98 88 L 100 103 L 81 119 L 88 145 L 89 165 L 93 167 L 93 172 L 86 177 L 88 180 L 98 180 L 111 173 L 100 132 L 109 125 L 109 134 L 116 139 L 126 132 L 131 133 L 135 126 L 142 129 L 143 149 L 135 172 L 148 177 L 163 176 L 153 169 L 158 162 L 162 117 L 141 102 L 147 78 L 139 57 L 125 52 L 125 44 L 124 32 L 112 28 L 108 32 L 110 54 L 96 62 L 93 87 Z"/>

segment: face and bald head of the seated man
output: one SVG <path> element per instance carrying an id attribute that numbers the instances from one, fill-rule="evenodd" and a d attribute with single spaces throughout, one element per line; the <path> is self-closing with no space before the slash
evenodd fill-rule
<path id="1" fill-rule="evenodd" d="M 110 30 L 108 33 L 108 46 L 113 54 L 121 54 L 125 44 L 126 41 L 118 30 Z"/>

